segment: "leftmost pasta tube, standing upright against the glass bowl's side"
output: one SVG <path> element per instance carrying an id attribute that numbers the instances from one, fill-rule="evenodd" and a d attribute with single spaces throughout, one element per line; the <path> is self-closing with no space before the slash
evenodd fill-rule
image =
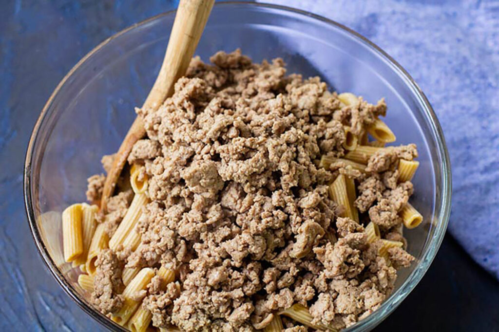
<path id="1" fill-rule="evenodd" d="M 83 252 L 81 218 L 81 204 L 73 204 L 62 212 L 62 243 L 66 262 L 72 262 Z"/>

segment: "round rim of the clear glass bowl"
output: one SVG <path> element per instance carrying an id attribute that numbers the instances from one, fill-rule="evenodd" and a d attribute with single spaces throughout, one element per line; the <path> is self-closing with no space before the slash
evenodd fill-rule
<path id="1" fill-rule="evenodd" d="M 250 2 L 250 1 L 227 1 L 227 2 L 217 2 L 215 4 L 215 8 L 219 7 L 224 7 L 224 6 L 248 6 L 248 7 L 260 7 L 260 8 L 270 8 L 270 9 L 276 9 L 279 11 L 283 12 L 291 12 L 294 14 L 299 14 L 303 16 L 307 16 L 310 18 L 313 18 L 315 20 L 321 21 L 323 23 L 327 23 L 329 25 L 333 25 L 336 28 L 339 28 L 343 30 L 344 32 L 347 32 L 350 36 L 354 37 L 357 41 L 363 43 L 364 45 L 368 46 L 373 52 L 377 53 L 378 56 L 381 56 L 385 62 L 391 66 L 391 69 L 394 70 L 395 72 L 398 73 L 399 77 L 403 78 L 405 80 L 405 83 L 409 88 L 411 88 L 412 92 L 414 93 L 415 96 L 417 96 L 420 99 L 420 102 L 424 105 L 424 112 L 426 115 L 429 117 L 430 121 L 430 127 L 432 128 L 435 137 L 436 137 L 436 143 L 437 143 L 437 152 L 438 156 L 441 158 L 442 162 L 442 196 L 441 196 L 441 202 L 442 206 L 439 211 L 435 211 L 434 218 L 438 221 L 438 224 L 435 226 L 435 233 L 433 234 L 433 238 L 429 240 L 429 245 L 427 246 L 425 251 L 423 252 L 423 255 L 421 257 L 420 262 L 416 266 L 416 268 L 409 274 L 409 276 L 406 278 L 406 280 L 403 282 L 403 284 L 399 287 L 399 289 L 392 293 L 388 299 L 386 299 L 380 308 L 378 308 L 375 312 L 373 312 L 371 315 L 366 317 L 365 319 L 355 323 L 351 327 L 343 330 L 343 331 L 355 331 L 357 329 L 359 330 L 366 330 L 370 328 L 374 328 L 374 326 L 380 324 L 384 319 L 386 319 L 401 303 L 402 301 L 409 295 L 409 293 L 414 290 L 414 288 L 417 286 L 417 284 L 421 281 L 422 277 L 430 267 L 433 259 L 435 258 L 438 249 L 440 248 L 446 229 L 447 225 L 449 222 L 450 218 L 450 210 L 451 210 L 451 196 L 452 196 L 452 174 L 451 174 L 451 165 L 450 165 L 450 158 L 449 158 L 449 153 L 447 150 L 447 145 L 445 142 L 444 138 L 444 133 L 442 131 L 442 127 L 440 126 L 440 123 L 437 119 L 437 116 L 428 101 L 426 95 L 423 93 L 419 85 L 414 81 L 414 79 L 411 77 L 411 75 L 397 62 L 395 61 L 390 55 L 388 55 L 385 51 L 383 51 L 379 46 L 377 46 L 375 43 L 371 42 L 369 39 L 361 35 L 360 33 L 352 30 L 351 28 L 338 23 L 334 20 L 331 20 L 329 18 L 313 14 L 311 12 L 285 6 L 285 5 L 278 5 L 278 4 L 270 4 L 270 3 L 256 3 L 256 2 Z M 72 298 L 76 304 L 83 309 L 85 313 L 87 313 L 90 317 L 92 317 L 94 320 L 96 320 L 98 323 L 100 323 L 103 327 L 109 330 L 115 330 L 115 331 L 127 331 L 123 327 L 119 326 L 118 324 L 112 322 L 109 320 L 106 316 L 95 310 L 91 305 L 87 303 L 87 301 L 81 297 L 74 289 L 74 287 L 69 284 L 62 273 L 59 271 L 57 266 L 55 265 L 54 261 L 50 257 L 48 250 L 46 246 L 43 243 L 43 240 L 41 238 L 41 234 L 36 226 L 36 214 L 35 214 L 35 209 L 33 207 L 33 202 L 32 202 L 32 197 L 31 197 L 31 175 L 32 175 L 32 153 L 33 149 L 35 146 L 35 143 L 37 141 L 37 137 L 39 134 L 39 129 L 40 126 L 47 114 L 47 111 L 52 104 L 53 99 L 55 96 L 59 93 L 59 90 L 62 88 L 62 86 L 66 83 L 66 81 L 72 76 L 72 74 L 89 58 L 91 57 L 94 53 L 99 51 L 101 48 L 103 48 L 106 44 L 108 44 L 110 41 L 114 40 L 115 38 L 129 32 L 130 30 L 142 26 L 144 24 L 147 24 L 151 21 L 154 21 L 158 18 L 171 15 L 176 12 L 176 9 L 166 11 L 157 15 L 154 15 L 152 17 L 149 17 L 145 20 L 142 20 L 138 23 L 132 24 L 131 26 L 113 34 L 112 36 L 108 37 L 101 43 L 99 43 L 96 47 L 94 47 L 90 52 L 88 52 L 85 56 L 83 56 L 72 68 L 71 70 L 62 78 L 62 80 L 59 82 L 59 84 L 56 86 L 50 97 L 48 98 L 47 102 L 43 106 L 43 109 L 40 112 L 40 115 L 38 116 L 38 119 L 36 120 L 36 123 L 33 127 L 29 143 L 26 149 L 26 154 L 25 154 L 25 162 L 24 162 L 24 170 L 23 170 L 23 193 L 24 193 L 24 204 L 25 204 L 25 210 L 26 210 L 26 215 L 29 223 L 29 228 L 31 230 L 31 235 L 35 241 L 37 251 L 39 255 L 43 258 L 43 262 L 45 263 L 45 266 L 48 268 L 52 276 L 55 278 L 55 280 L 58 282 L 58 284 L 62 287 L 62 289 L 65 291 L 67 295 L 69 295 L 70 298 Z M 431 244 L 431 246 L 430 246 Z M 410 285 L 409 285 L 410 284 Z M 382 310 L 383 309 L 383 310 Z M 372 323 L 374 324 L 372 324 Z"/>

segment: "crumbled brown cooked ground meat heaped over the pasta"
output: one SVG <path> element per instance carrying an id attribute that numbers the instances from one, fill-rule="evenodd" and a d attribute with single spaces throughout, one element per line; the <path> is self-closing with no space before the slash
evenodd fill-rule
<path id="1" fill-rule="evenodd" d="M 354 324 L 380 306 L 396 268 L 413 257 L 400 248 L 388 251 L 391 264 L 378 256 L 380 241 L 369 244 L 362 224 L 339 217 L 328 184 L 352 173 L 363 224 L 371 219 L 402 241 L 398 213 L 413 188 L 397 183 L 396 167 L 416 157 L 416 147 L 377 153 L 367 175 L 320 168 L 322 155 L 344 156 L 344 126 L 361 134 L 385 114 L 383 100 L 345 106 L 319 78 L 286 75 L 281 59 L 255 64 L 237 50 L 210 60 L 194 58 L 158 111 L 137 109 L 147 138 L 128 161 L 144 166 L 151 201 L 139 221 L 141 244 L 120 263 L 178 272 L 166 289 L 155 279 L 149 285 L 143 306 L 153 325 L 254 331 L 294 303 L 310 308 L 314 324 Z M 99 197 L 101 181 L 91 178 L 89 198 Z M 108 204 L 110 234 L 130 199 L 122 192 Z M 99 255 L 94 299 L 104 313 L 120 305 L 116 259 L 110 250 Z M 285 331 L 307 331 L 283 322 Z"/>

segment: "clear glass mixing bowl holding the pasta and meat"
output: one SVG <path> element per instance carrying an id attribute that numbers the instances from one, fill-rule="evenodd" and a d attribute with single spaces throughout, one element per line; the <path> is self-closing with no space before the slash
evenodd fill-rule
<path id="1" fill-rule="evenodd" d="M 86 178 L 101 172 L 102 155 L 117 151 L 159 71 L 175 12 L 136 24 L 105 40 L 64 77 L 35 124 L 26 153 L 24 195 L 29 225 L 51 273 L 103 326 L 123 328 L 95 311 L 63 262 L 61 211 L 85 200 Z M 379 47 L 347 27 L 304 11 L 255 3 L 215 5 L 196 54 L 241 48 L 254 61 L 282 57 L 289 73 L 319 75 L 331 89 L 369 102 L 385 97 L 386 123 L 397 144 L 416 143 L 420 166 L 413 205 L 424 222 L 407 230 L 416 262 L 399 271 L 396 289 L 375 313 L 346 331 L 368 331 L 421 280 L 449 220 L 451 171 L 442 130 L 409 74 Z"/>

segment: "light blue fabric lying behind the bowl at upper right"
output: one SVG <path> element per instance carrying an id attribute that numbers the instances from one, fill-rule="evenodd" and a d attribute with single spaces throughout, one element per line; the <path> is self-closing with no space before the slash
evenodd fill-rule
<path id="1" fill-rule="evenodd" d="M 443 127 L 453 175 L 449 230 L 499 279 L 499 3 L 265 0 L 336 20 L 395 58 Z"/>

